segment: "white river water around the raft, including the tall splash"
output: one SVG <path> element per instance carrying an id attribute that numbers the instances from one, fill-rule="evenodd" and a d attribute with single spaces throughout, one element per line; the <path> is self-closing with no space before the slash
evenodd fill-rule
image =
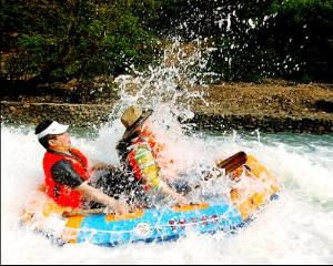
<path id="1" fill-rule="evenodd" d="M 33 129 L 1 126 L 1 263 L 3 264 L 332 264 L 333 263 L 333 136 L 301 134 L 249 135 L 191 132 L 179 123 L 193 113 L 199 93 L 194 70 L 204 70 L 200 42 L 192 52 L 179 43 L 165 51 L 161 66 L 119 76 L 121 99 L 95 137 L 73 133 L 72 144 L 90 158 L 119 163 L 115 143 L 123 133 L 120 114 L 129 105 L 152 108 L 158 137 L 168 144 L 176 166 L 193 162 L 212 164 L 238 151 L 256 156 L 282 184 L 280 200 L 272 202 L 253 223 L 235 235 L 190 234 L 163 244 L 132 244 L 104 248 L 91 244 L 58 247 L 19 225 L 27 198 L 42 182 L 43 149 Z M 175 57 L 175 59 L 172 59 Z M 175 62 L 178 62 L 175 64 Z M 192 70 L 193 70 L 192 69 Z M 190 72 L 188 72 L 190 71 Z M 204 73 L 202 71 L 201 73 Z M 206 73 L 205 73 L 206 74 Z M 204 89 L 204 84 L 200 84 Z M 180 119 L 179 119 L 180 117 Z M 223 184 L 222 184 L 223 185 Z M 213 193 L 221 186 L 210 186 Z M 214 191 L 215 190 L 215 191 Z M 220 191 L 219 191 L 220 190 Z"/>

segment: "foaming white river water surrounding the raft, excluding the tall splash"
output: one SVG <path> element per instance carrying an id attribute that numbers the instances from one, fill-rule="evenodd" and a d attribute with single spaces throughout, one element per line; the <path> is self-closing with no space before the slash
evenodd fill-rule
<path id="1" fill-rule="evenodd" d="M 72 129 L 73 131 L 73 129 Z M 94 134 L 72 132 L 89 157 L 118 163 L 119 121 Z M 332 264 L 333 135 L 195 132 L 176 141 L 178 156 L 212 161 L 238 151 L 254 154 L 282 185 L 248 226 L 160 244 L 107 248 L 53 245 L 20 226 L 20 212 L 42 181 L 43 149 L 33 129 L 1 126 L 1 264 Z"/>

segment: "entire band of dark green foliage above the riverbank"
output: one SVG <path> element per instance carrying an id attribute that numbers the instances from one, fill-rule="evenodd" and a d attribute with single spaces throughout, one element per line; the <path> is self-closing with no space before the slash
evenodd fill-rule
<path id="1" fill-rule="evenodd" d="M 2 0 L 1 79 L 144 70 L 165 39 L 209 39 L 222 80 L 333 81 L 332 0 Z"/>

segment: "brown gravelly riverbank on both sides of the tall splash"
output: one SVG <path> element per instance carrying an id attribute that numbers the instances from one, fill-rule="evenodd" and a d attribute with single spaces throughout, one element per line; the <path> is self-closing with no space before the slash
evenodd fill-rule
<path id="1" fill-rule="evenodd" d="M 205 88 L 203 99 L 205 102 L 193 101 L 191 111 L 195 115 L 186 121 L 200 129 L 333 132 L 333 84 L 223 83 Z M 2 123 L 36 125 L 50 117 L 84 127 L 107 123 L 118 96 L 114 94 L 108 101 L 99 96 L 85 103 L 60 102 L 50 95 L 4 100 Z"/>

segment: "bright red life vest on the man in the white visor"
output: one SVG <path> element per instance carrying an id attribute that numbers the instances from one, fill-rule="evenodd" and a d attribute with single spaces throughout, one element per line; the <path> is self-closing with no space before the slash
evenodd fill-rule
<path id="1" fill-rule="evenodd" d="M 51 173 L 51 167 L 60 160 L 65 160 L 71 163 L 73 170 L 84 180 L 90 176 L 87 157 L 78 150 L 71 149 L 70 152 L 74 156 L 69 156 L 62 153 L 47 152 L 43 158 L 43 168 L 46 174 L 46 192 L 60 206 L 80 207 L 82 204 L 82 193 L 67 185 L 54 182 Z"/>

